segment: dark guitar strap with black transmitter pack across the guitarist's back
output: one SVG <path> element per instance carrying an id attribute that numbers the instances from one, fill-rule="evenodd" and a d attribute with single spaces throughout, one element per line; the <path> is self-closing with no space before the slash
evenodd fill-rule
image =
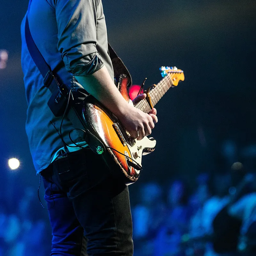
<path id="1" fill-rule="evenodd" d="M 52 96 L 48 101 L 48 106 L 52 110 L 52 113 L 54 114 L 54 116 L 62 116 L 64 114 L 65 108 L 67 106 L 67 101 L 68 101 L 67 99 L 68 94 L 63 92 L 69 92 L 70 88 L 68 85 L 65 85 L 62 83 L 61 79 L 56 74 L 56 70 L 54 71 L 51 69 L 51 67 L 44 60 L 44 57 L 42 56 L 41 52 L 38 50 L 30 33 L 29 24 L 28 24 L 28 15 L 26 16 L 26 23 L 25 23 L 25 38 L 26 38 L 28 51 L 32 59 L 34 60 L 37 68 L 39 69 L 41 75 L 44 77 L 44 86 L 48 88 L 52 93 Z M 129 86 L 130 86 L 132 84 L 131 75 L 128 69 L 125 67 L 123 61 L 117 56 L 116 52 L 113 50 L 110 44 L 108 44 L 108 54 L 113 64 L 115 78 L 117 78 L 121 74 L 127 75 L 130 78 L 130 83 L 129 83 Z M 87 135 L 86 136 L 87 140 L 91 140 L 91 143 L 90 141 L 86 141 L 86 142 L 89 144 L 92 150 L 93 148 L 95 149 L 100 144 L 100 141 L 97 140 L 96 137 L 86 129 L 84 122 L 81 116 L 76 111 L 76 108 L 72 101 L 70 102 L 70 107 L 66 112 L 66 116 L 71 121 L 73 126 L 77 129 L 79 136 L 81 136 L 82 138 L 85 138 L 85 136 Z M 85 134 L 82 131 L 79 131 L 79 129 L 87 131 L 86 132 L 87 134 Z M 88 137 L 88 134 L 89 134 L 89 137 Z M 100 144 L 100 146 L 102 145 Z"/>

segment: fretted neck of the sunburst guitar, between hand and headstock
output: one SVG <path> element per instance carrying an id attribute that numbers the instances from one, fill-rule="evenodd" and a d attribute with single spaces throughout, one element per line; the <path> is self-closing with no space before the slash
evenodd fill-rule
<path id="1" fill-rule="evenodd" d="M 173 86 L 172 76 L 172 73 L 167 74 L 158 84 L 156 84 L 155 88 L 149 91 L 149 97 L 153 106 L 155 106 L 164 94 Z M 151 110 L 146 99 L 140 100 L 135 105 L 135 108 L 139 108 L 144 113 L 148 113 Z"/>

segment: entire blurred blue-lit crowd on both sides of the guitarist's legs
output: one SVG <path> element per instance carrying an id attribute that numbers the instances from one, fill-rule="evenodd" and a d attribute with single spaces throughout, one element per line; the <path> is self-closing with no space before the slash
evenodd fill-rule
<path id="1" fill-rule="evenodd" d="M 131 198 L 134 256 L 256 255 L 255 148 L 225 140 L 220 168 L 189 182 L 138 183 L 136 202 Z M 0 187 L 0 256 L 49 255 L 47 211 L 35 189 L 12 191 Z"/>

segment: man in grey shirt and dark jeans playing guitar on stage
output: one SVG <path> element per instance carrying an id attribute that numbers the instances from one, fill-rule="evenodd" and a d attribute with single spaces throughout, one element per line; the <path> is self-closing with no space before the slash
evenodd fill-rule
<path id="1" fill-rule="evenodd" d="M 30 0 L 27 14 L 38 50 L 72 89 L 75 104 L 92 94 L 133 138 L 151 133 L 156 109 L 145 114 L 128 105 L 114 84 L 101 0 Z M 79 147 L 71 145 L 68 134 L 74 127 L 66 116 L 60 132 L 62 117 L 55 117 L 47 105 L 51 92 L 28 51 L 25 22 L 26 16 L 21 24 L 26 132 L 36 173 L 44 181 L 51 255 L 132 255 L 128 188 L 110 175 L 100 156 L 86 149 L 76 131 L 71 137 Z M 145 97 L 139 95 L 134 102 Z"/>

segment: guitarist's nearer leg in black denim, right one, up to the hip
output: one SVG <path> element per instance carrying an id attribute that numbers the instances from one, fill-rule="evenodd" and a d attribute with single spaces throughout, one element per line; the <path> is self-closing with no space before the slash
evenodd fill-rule
<path id="1" fill-rule="evenodd" d="M 86 173 L 68 182 L 68 197 L 76 217 L 88 238 L 88 255 L 132 256 L 132 216 L 128 187 L 110 174 L 102 156 L 91 150 L 79 152 L 70 164 L 77 166 L 77 158 L 85 160 Z M 60 175 L 63 180 L 64 176 Z"/>

